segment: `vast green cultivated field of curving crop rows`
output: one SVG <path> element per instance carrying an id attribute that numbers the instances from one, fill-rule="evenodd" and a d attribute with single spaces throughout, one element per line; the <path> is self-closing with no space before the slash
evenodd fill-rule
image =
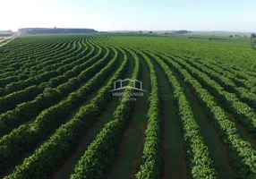
<path id="1" fill-rule="evenodd" d="M 0 178 L 255 179 L 255 69 L 249 38 L 15 38 L 0 47 Z M 115 96 L 124 79 L 142 90 Z"/>

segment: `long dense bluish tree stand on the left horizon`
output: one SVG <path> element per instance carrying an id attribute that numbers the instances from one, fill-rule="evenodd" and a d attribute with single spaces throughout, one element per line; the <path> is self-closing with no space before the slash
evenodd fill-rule
<path id="1" fill-rule="evenodd" d="M 93 29 L 62 29 L 62 28 L 23 28 L 18 30 L 21 34 L 51 34 L 51 33 L 92 33 Z"/>

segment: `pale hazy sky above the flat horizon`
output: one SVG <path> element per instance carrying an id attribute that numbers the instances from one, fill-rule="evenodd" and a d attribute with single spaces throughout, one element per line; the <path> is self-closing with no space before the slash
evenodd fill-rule
<path id="1" fill-rule="evenodd" d="M 0 30 L 256 31 L 256 0 L 1 0 L 0 4 Z"/>

